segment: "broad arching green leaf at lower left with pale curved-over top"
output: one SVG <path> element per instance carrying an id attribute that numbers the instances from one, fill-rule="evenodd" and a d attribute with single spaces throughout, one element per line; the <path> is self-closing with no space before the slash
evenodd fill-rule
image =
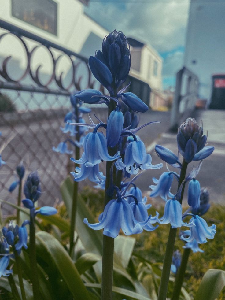
<path id="1" fill-rule="evenodd" d="M 36 237 L 39 239 L 39 242 L 45 246 L 46 251 L 48 251 L 50 254 L 74 299 L 90 299 L 89 293 L 80 278 L 79 272 L 77 271 L 69 254 L 59 243 L 59 241 L 44 231 L 39 231 L 36 234 Z"/>

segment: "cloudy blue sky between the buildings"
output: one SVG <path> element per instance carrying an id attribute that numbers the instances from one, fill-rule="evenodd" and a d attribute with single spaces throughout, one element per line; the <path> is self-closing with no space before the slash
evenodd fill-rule
<path id="1" fill-rule="evenodd" d="M 163 88 L 175 86 L 183 67 L 189 0 L 90 0 L 85 13 L 109 32 L 116 29 L 153 46 L 163 57 Z"/>

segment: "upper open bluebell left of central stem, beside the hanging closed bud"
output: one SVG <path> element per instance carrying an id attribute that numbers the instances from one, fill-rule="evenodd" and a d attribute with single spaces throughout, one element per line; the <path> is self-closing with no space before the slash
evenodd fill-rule
<path id="1" fill-rule="evenodd" d="M 102 132 L 89 132 L 83 143 L 84 153 L 79 160 L 71 158 L 77 164 L 93 167 L 101 161 L 113 161 L 120 157 L 120 152 L 110 156 L 107 149 L 107 140 Z"/>

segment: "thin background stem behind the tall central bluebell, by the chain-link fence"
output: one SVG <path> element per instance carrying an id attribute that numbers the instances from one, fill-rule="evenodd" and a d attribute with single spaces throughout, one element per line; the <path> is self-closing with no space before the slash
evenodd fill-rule
<path id="1" fill-rule="evenodd" d="M 76 113 L 76 119 L 78 120 L 79 118 L 79 110 L 76 107 L 75 109 Z M 76 140 L 79 142 L 80 141 L 80 134 L 79 131 L 76 134 Z M 78 160 L 80 158 L 80 148 L 78 146 L 75 146 L 75 159 Z M 76 167 L 79 167 L 79 164 L 75 164 L 75 169 Z M 72 202 L 72 212 L 71 212 L 71 224 L 70 224 L 70 239 L 69 239 L 69 254 L 72 256 L 73 249 L 74 249 L 74 232 L 76 228 L 76 211 L 77 211 L 77 198 L 78 198 L 78 182 L 74 181 L 74 186 L 73 186 L 73 202 Z"/>

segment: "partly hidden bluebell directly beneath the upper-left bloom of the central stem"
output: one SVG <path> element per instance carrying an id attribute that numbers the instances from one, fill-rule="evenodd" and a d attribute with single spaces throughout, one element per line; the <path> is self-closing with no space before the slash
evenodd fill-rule
<path id="1" fill-rule="evenodd" d="M 88 178 L 92 182 L 97 182 L 99 184 L 102 183 L 102 181 L 105 182 L 105 176 L 102 172 L 99 172 L 98 164 L 94 165 L 93 167 L 86 167 L 85 165 L 81 165 L 81 167 L 76 167 L 76 172 L 70 172 L 72 176 L 74 177 L 74 181 L 82 181 L 86 178 Z"/>

